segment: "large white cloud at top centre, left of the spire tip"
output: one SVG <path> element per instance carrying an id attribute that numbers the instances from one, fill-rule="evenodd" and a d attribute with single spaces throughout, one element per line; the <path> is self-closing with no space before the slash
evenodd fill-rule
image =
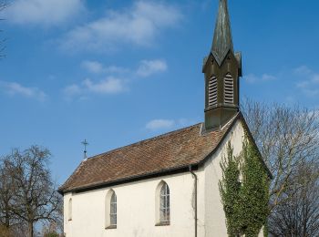
<path id="1" fill-rule="evenodd" d="M 140 0 L 129 9 L 108 14 L 85 26 L 77 26 L 60 41 L 62 49 L 111 50 L 120 44 L 151 45 L 160 31 L 176 26 L 180 10 L 163 2 Z"/>

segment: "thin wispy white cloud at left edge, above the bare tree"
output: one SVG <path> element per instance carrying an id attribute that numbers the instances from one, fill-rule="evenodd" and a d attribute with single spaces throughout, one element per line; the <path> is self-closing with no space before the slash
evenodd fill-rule
<path id="1" fill-rule="evenodd" d="M 36 98 L 40 101 L 46 99 L 46 93 L 39 88 L 26 88 L 17 82 L 0 81 L 0 88 L 11 96 L 20 95 L 25 98 Z"/>

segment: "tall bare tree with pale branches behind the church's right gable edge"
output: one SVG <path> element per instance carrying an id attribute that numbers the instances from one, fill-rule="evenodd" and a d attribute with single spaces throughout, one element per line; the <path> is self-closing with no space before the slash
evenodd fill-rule
<path id="1" fill-rule="evenodd" d="M 305 162 L 319 159 L 319 113 L 246 99 L 242 112 L 262 158 L 273 173 L 271 210 L 286 199 L 289 181 Z M 288 197 L 286 197 L 288 200 Z"/>

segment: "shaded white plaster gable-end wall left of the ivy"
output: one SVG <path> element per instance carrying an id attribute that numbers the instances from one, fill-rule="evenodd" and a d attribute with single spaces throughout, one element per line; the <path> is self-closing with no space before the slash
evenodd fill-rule
<path id="1" fill-rule="evenodd" d="M 205 205 L 205 237 L 227 236 L 225 213 L 221 204 L 221 195 L 219 191 L 219 180 L 221 180 L 221 158 L 226 155 L 226 145 L 231 141 L 233 155 L 237 156 L 242 151 L 242 140 L 244 139 L 244 130 L 242 123 L 238 120 L 233 126 L 232 131 L 228 133 L 226 139 L 205 164 L 204 168 L 204 205 Z"/>

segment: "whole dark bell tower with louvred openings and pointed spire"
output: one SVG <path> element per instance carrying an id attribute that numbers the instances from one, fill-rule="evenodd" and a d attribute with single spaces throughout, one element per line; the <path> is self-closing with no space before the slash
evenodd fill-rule
<path id="1" fill-rule="evenodd" d="M 205 130 L 221 129 L 239 111 L 242 55 L 234 53 L 227 0 L 219 0 L 211 52 L 204 58 Z"/>

